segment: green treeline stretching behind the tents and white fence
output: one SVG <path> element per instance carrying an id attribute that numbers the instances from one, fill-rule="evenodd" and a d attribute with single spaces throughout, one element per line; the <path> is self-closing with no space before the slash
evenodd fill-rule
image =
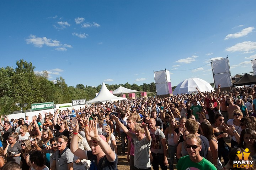
<path id="1" fill-rule="evenodd" d="M 56 83 L 48 80 L 47 71 L 43 74 L 35 74 L 35 67 L 31 62 L 20 60 L 16 62 L 16 68 L 0 68 L 0 114 L 9 114 L 18 111 L 20 108 L 15 106 L 20 103 L 28 103 L 25 109 L 30 109 L 31 103 L 42 103 L 54 101 L 54 104 L 70 103 L 71 100 L 84 99 L 91 100 L 95 93 L 99 92 L 101 85 L 97 87 L 84 86 L 78 84 L 76 87 L 68 86 L 62 77 L 57 78 Z M 132 90 L 146 91 L 148 96 L 156 95 L 155 83 L 150 84 L 121 84 L 123 87 Z M 108 85 L 108 90 L 116 90 L 120 85 Z M 136 94 L 140 96 L 140 93 Z M 128 96 L 127 96 L 128 97 Z"/>

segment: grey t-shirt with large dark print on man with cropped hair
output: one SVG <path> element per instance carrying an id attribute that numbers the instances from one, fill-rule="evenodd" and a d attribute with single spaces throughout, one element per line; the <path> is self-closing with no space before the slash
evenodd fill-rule
<path id="1" fill-rule="evenodd" d="M 164 132 L 162 132 L 160 129 L 156 129 L 155 132 L 150 131 L 150 136 L 152 138 L 151 142 L 151 152 L 153 153 L 164 153 L 164 148 L 162 146 L 161 139 L 165 138 Z"/>

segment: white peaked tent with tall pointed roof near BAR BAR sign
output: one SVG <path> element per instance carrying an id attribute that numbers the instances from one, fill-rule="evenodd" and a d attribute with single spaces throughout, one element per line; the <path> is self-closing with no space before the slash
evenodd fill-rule
<path id="1" fill-rule="evenodd" d="M 97 102 L 105 102 L 105 101 L 118 101 L 118 100 L 127 100 L 126 97 L 117 97 L 113 95 L 106 87 L 105 83 L 102 83 L 101 90 L 98 95 L 92 99 L 87 101 L 86 103 L 97 103 Z"/>

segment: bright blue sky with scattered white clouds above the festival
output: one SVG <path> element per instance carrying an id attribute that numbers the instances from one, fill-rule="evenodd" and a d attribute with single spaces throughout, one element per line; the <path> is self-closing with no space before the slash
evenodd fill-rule
<path id="1" fill-rule="evenodd" d="M 229 57 L 231 75 L 252 71 L 256 1 L 0 1 L 0 67 L 24 59 L 68 86 L 198 77 L 213 83 L 210 58 Z M 184 71 L 186 70 L 186 71 Z"/>

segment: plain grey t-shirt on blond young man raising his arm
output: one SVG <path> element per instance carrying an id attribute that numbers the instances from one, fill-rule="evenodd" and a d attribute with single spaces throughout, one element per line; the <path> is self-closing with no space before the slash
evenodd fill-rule
<path id="1" fill-rule="evenodd" d="M 134 141 L 134 166 L 138 169 L 150 168 L 149 149 L 152 139 L 148 141 L 144 137 L 139 141 L 135 134 L 132 135 Z"/>

